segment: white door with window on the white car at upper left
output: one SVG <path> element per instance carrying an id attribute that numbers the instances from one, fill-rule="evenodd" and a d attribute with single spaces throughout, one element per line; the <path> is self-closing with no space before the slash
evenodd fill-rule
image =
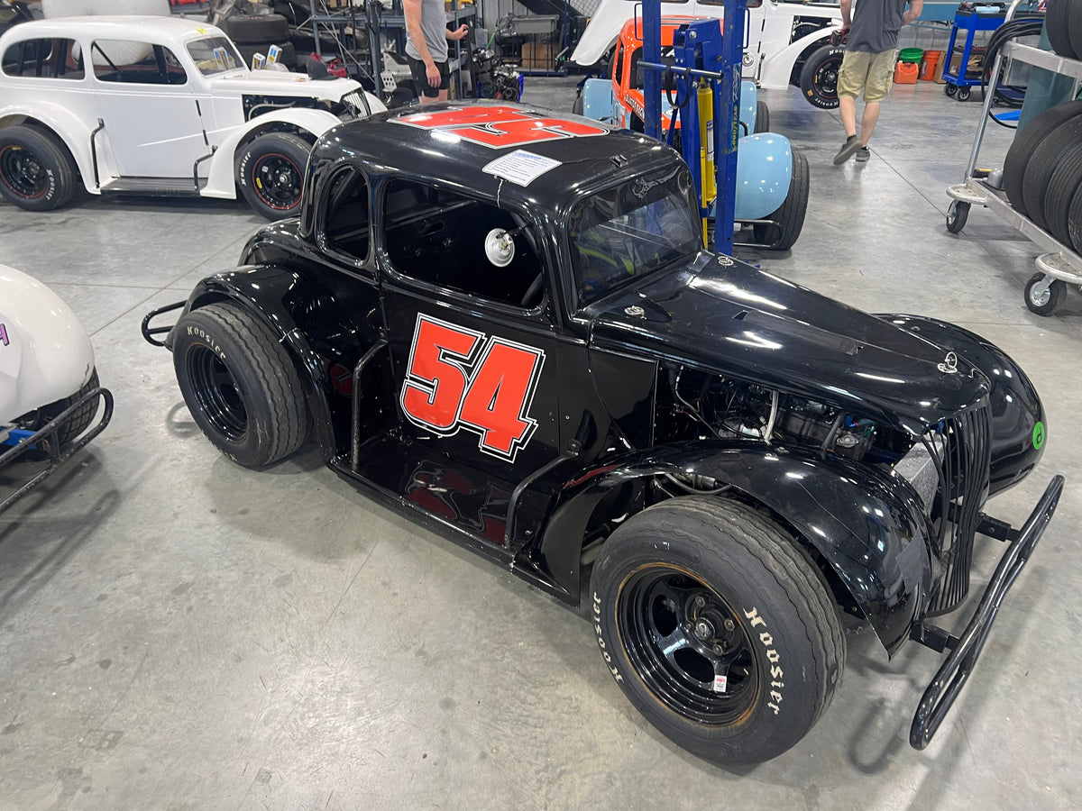
<path id="1" fill-rule="evenodd" d="M 103 135 L 124 177 L 188 178 L 210 154 L 192 78 L 164 45 L 95 40 L 90 45 Z"/>

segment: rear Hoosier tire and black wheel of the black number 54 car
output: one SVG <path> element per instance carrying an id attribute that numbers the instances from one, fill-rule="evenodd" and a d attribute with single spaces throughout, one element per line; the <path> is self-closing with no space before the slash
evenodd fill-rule
<path id="1" fill-rule="evenodd" d="M 275 333 L 232 303 L 177 321 L 173 369 L 196 424 L 245 467 L 285 458 L 307 435 L 301 381 Z"/>

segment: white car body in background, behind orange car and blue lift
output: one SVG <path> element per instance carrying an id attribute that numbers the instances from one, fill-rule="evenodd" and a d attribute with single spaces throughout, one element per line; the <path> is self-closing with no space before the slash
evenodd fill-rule
<path id="1" fill-rule="evenodd" d="M 723 6 L 718 4 L 690 2 L 661 2 L 661 14 L 696 17 L 723 17 Z M 602 0 L 590 25 L 582 32 L 571 61 L 580 65 L 593 65 L 608 51 L 620 36 L 623 24 L 637 15 L 641 9 L 631 0 Z M 790 43 L 795 17 L 803 19 L 826 19 L 829 25 Z M 789 87 L 793 65 L 808 45 L 826 40 L 842 27 L 842 11 L 837 5 L 806 2 L 771 2 L 763 0 L 757 8 L 748 9 L 744 36 L 743 78 L 768 90 L 784 90 Z"/>

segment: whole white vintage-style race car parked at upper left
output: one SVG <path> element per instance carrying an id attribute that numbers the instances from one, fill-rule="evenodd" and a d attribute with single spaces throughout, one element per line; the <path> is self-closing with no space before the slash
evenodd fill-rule
<path id="1" fill-rule="evenodd" d="M 0 37 L 0 194 L 24 209 L 93 195 L 235 199 L 300 209 L 308 148 L 386 109 L 352 79 L 250 70 L 206 23 L 62 17 Z"/>

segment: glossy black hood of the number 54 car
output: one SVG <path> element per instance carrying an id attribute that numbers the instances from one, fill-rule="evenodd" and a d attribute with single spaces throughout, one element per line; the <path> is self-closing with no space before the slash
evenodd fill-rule
<path id="1" fill-rule="evenodd" d="M 886 420 L 910 434 L 979 402 L 973 365 L 899 329 L 727 256 L 703 252 L 597 302 L 591 343 L 655 356 Z M 954 369 L 954 371 L 949 371 Z"/>

